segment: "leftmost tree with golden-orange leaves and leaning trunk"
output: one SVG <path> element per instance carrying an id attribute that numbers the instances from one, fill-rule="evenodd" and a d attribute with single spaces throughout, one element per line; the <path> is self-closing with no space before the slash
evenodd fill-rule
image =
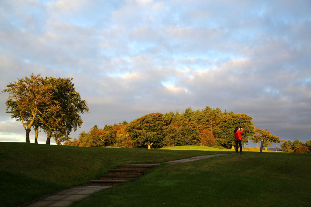
<path id="1" fill-rule="evenodd" d="M 9 93 L 6 101 L 6 112 L 11 118 L 21 121 L 26 130 L 26 142 L 30 142 L 29 133 L 39 111 L 46 110 L 53 103 L 52 92 L 54 85 L 48 84 L 47 79 L 38 75 L 30 75 L 17 79 L 6 85 L 3 92 Z"/>

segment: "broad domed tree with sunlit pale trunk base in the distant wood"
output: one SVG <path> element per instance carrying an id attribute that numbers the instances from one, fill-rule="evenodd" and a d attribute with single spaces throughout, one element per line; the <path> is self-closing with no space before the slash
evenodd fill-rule
<path id="1" fill-rule="evenodd" d="M 162 113 L 151 113 L 132 120 L 126 126 L 126 133 L 131 137 L 131 144 L 142 147 L 163 146 L 167 123 Z"/>

